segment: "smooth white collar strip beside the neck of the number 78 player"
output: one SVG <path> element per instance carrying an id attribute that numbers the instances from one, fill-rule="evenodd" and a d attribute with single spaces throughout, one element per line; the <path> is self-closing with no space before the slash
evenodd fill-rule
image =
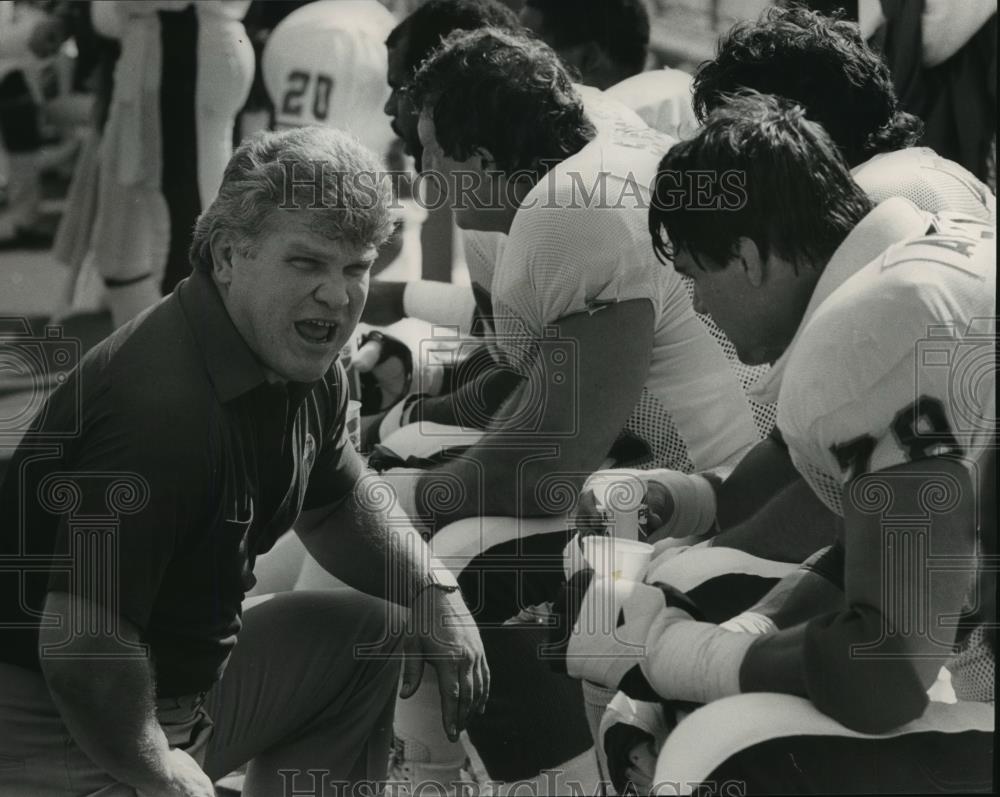
<path id="1" fill-rule="evenodd" d="M 908 199 L 892 197 L 882 202 L 858 225 L 851 230 L 843 243 L 837 247 L 830 262 L 820 275 L 816 288 L 806 306 L 805 315 L 792 342 L 764 374 L 750 388 L 750 395 L 764 404 L 773 404 L 781 391 L 781 380 L 788 365 L 795 344 L 802 335 L 816 309 L 823 304 L 837 288 L 843 285 L 871 261 L 895 243 L 920 235 L 927 229 L 928 214 L 921 211 Z"/>

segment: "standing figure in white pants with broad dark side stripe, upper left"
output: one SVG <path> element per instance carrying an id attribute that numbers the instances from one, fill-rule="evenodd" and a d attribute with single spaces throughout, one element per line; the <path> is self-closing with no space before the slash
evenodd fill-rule
<path id="1" fill-rule="evenodd" d="M 121 0 L 121 56 L 99 153 L 94 224 L 74 304 L 93 275 L 113 327 L 191 267 L 191 229 L 215 196 L 253 80 L 249 0 Z"/>

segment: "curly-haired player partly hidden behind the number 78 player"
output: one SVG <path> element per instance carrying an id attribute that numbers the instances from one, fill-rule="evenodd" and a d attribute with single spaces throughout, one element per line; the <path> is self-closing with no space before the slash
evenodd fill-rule
<path id="1" fill-rule="evenodd" d="M 856 25 L 793 6 L 734 26 L 695 76 L 695 110 L 704 118 L 740 89 L 799 103 L 876 202 L 905 196 L 934 213 L 996 220 L 995 198 L 972 173 L 914 146 L 923 125 L 902 110 L 888 67 Z"/>

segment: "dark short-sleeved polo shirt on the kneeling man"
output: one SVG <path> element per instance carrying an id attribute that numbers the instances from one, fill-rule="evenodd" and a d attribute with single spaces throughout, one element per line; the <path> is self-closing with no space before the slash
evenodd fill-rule
<path id="1" fill-rule="evenodd" d="M 209 689 L 255 558 L 362 471 L 346 386 L 339 363 L 312 384 L 268 383 L 201 274 L 104 340 L 42 406 L 0 488 L 0 661 L 39 669 L 45 594 L 61 590 L 140 629 L 158 696 Z"/>

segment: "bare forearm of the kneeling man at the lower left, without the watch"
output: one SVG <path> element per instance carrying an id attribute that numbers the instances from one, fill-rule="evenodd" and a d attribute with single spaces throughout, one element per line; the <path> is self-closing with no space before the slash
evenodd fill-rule
<path id="1" fill-rule="evenodd" d="M 50 593 L 45 610 L 69 619 L 81 611 L 71 606 L 79 606 L 78 601 L 87 602 L 77 596 Z M 83 611 L 87 609 L 104 611 L 94 604 Z M 70 626 L 64 623 L 62 627 Z M 156 792 L 170 782 L 170 746 L 156 719 L 149 659 L 135 658 L 134 648 L 123 650 L 122 639 L 136 644 L 138 632 L 125 620 L 117 627 L 119 639 L 80 636 L 69 647 L 61 647 L 59 657 L 42 655 L 42 672 L 80 749 L 116 780 L 140 791 Z M 60 636 L 58 630 L 43 628 L 39 650 L 63 643 Z"/>

